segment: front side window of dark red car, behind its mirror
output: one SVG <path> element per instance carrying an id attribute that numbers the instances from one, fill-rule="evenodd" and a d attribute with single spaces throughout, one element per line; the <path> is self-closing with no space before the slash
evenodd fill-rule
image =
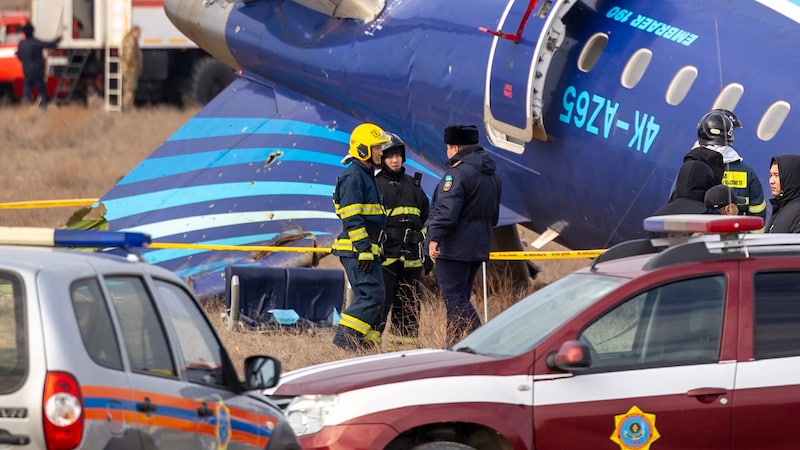
<path id="1" fill-rule="evenodd" d="M 603 314 L 580 338 L 592 369 L 715 362 L 725 304 L 722 275 L 643 292 Z"/>

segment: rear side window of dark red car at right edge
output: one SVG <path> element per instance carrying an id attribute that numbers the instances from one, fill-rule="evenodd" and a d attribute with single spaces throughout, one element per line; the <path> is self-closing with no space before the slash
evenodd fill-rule
<path id="1" fill-rule="evenodd" d="M 800 272 L 759 273 L 753 281 L 753 356 L 800 355 Z"/>

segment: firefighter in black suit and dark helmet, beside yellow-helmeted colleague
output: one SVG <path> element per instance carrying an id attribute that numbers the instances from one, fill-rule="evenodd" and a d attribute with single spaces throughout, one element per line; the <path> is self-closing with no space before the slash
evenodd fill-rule
<path id="1" fill-rule="evenodd" d="M 420 278 L 422 275 L 423 226 L 428 220 L 428 197 L 420 185 L 422 174 L 405 173 L 406 146 L 389 133 L 383 164 L 377 175 L 386 209 L 386 242 L 383 244 L 383 282 L 386 306 L 391 312 L 391 344 L 416 346 L 419 337 Z M 383 331 L 381 326 L 377 331 Z"/>

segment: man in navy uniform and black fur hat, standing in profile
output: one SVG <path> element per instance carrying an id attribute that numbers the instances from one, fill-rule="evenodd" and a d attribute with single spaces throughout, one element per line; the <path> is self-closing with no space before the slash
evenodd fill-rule
<path id="1" fill-rule="evenodd" d="M 481 324 L 470 294 L 478 268 L 489 259 L 501 184 L 494 161 L 478 145 L 475 125 L 447 127 L 444 143 L 450 159 L 433 195 L 427 250 L 436 263 L 451 346 Z"/>

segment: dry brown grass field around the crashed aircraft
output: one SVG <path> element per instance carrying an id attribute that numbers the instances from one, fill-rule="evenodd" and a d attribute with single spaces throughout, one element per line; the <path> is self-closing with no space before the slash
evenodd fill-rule
<path id="1" fill-rule="evenodd" d="M 197 112 L 196 109 L 148 107 L 120 114 L 102 107 L 51 105 L 46 111 L 31 106 L 0 107 L 0 202 L 97 198 L 149 155 Z M 61 227 L 73 208 L 0 209 L 0 225 Z M 531 233 L 524 233 L 531 240 Z M 547 250 L 559 250 L 552 246 Z M 585 260 L 544 261 L 539 284 L 586 264 Z M 338 260 L 323 258 L 326 267 L 340 267 Z M 480 277 L 479 277 L 480 278 Z M 433 286 L 433 284 L 431 284 Z M 493 317 L 535 286 L 509 286 L 502 279 L 489 287 L 488 312 Z M 474 296 L 483 317 L 480 289 Z M 250 354 L 270 354 L 283 362 L 284 370 L 352 356 L 331 344 L 332 330 L 284 330 L 270 332 L 229 331 L 221 317 L 220 302 L 207 310 L 238 368 Z M 426 292 L 421 317 L 421 344 L 444 344 L 444 307 L 435 288 Z M 384 345 L 383 351 L 391 348 Z"/>

